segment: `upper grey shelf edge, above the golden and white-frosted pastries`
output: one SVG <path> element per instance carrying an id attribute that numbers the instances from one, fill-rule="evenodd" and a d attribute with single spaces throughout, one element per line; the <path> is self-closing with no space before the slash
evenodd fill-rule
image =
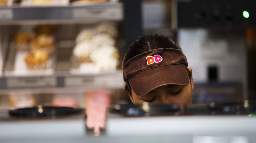
<path id="1" fill-rule="evenodd" d="M 15 4 L 0 9 L 0 24 L 20 24 L 35 21 L 65 23 L 98 20 L 122 21 L 123 4 L 121 2 L 75 6 L 20 6 L 20 4 Z"/>

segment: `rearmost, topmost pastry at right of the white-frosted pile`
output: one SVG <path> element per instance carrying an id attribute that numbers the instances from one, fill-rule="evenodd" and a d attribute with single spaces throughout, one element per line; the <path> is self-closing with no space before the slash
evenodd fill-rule
<path id="1" fill-rule="evenodd" d="M 111 38 L 117 38 L 117 28 L 114 23 L 102 23 L 96 26 L 97 33 L 109 35 Z"/>

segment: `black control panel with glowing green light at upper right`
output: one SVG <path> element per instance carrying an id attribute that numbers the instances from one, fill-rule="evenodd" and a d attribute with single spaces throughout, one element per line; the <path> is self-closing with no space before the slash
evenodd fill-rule
<path id="1" fill-rule="evenodd" d="M 255 5 L 254 0 L 178 0 L 178 27 L 255 27 Z"/>

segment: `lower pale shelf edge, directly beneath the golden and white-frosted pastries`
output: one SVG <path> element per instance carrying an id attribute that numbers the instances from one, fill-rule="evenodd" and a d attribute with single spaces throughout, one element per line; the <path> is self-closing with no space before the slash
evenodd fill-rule
<path id="1" fill-rule="evenodd" d="M 96 74 L 72 75 L 55 73 L 53 75 L 26 75 L 0 77 L 0 90 L 21 88 L 122 88 L 124 86 L 122 71 L 101 72 Z"/>

